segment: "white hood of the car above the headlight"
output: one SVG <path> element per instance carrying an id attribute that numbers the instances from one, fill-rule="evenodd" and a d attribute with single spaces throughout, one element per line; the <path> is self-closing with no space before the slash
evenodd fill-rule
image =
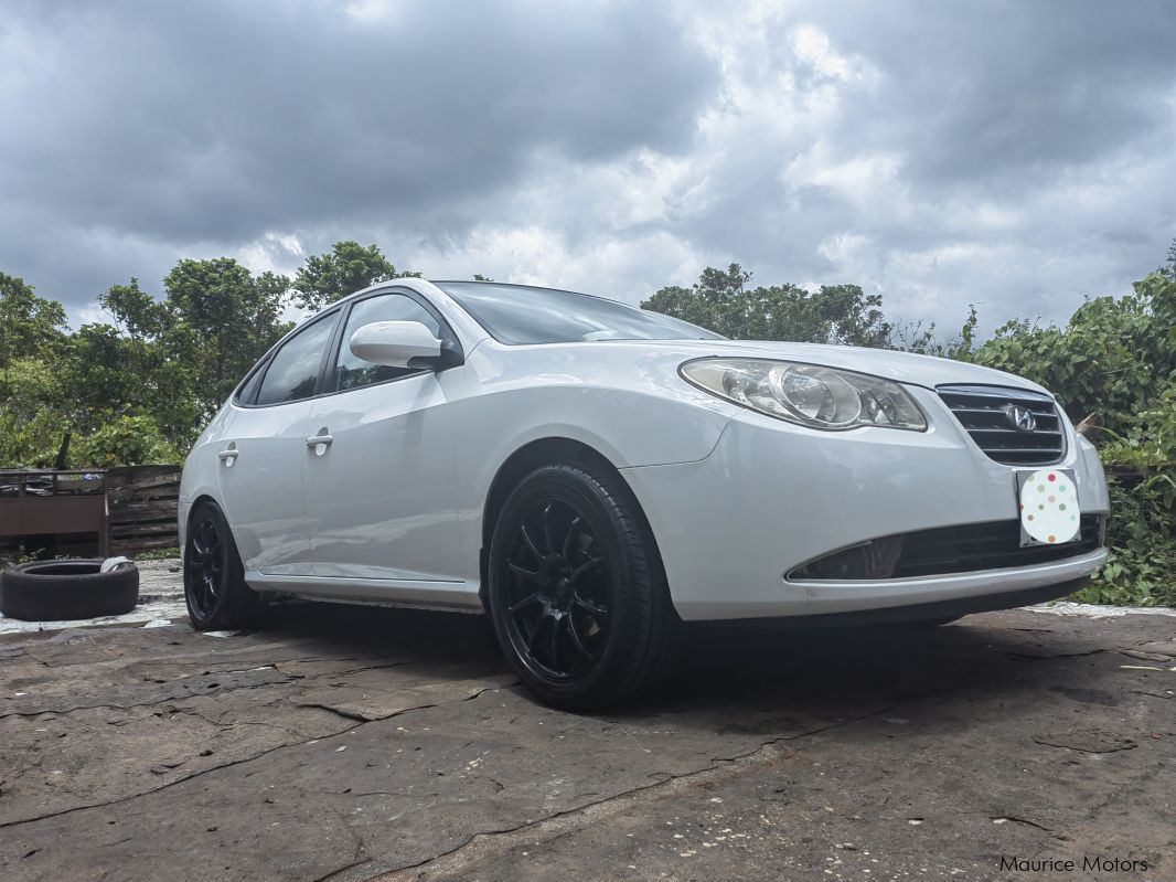
<path id="1" fill-rule="evenodd" d="M 620 345 L 622 341 L 608 341 Z M 857 346 L 827 346 L 822 343 L 786 343 L 761 340 L 634 340 L 624 341 L 643 347 L 664 347 L 681 353 L 686 359 L 721 355 L 727 358 L 760 358 L 800 361 L 809 365 L 856 370 L 887 380 L 915 386 L 976 383 L 1009 386 L 1018 389 L 1049 390 L 1024 377 L 1003 370 L 969 365 L 964 361 L 937 359 L 891 349 L 867 349 Z M 589 343 L 599 346 L 600 343 Z"/>

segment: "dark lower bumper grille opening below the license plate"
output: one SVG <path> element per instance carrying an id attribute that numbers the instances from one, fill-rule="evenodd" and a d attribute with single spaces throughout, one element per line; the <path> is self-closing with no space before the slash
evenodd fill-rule
<path id="1" fill-rule="evenodd" d="M 989 521 L 904 533 L 834 552 L 797 567 L 793 580 L 910 579 L 974 573 L 1076 557 L 1103 543 L 1102 515 L 1082 515 L 1078 539 L 1058 546 L 1021 547 L 1020 521 Z"/>

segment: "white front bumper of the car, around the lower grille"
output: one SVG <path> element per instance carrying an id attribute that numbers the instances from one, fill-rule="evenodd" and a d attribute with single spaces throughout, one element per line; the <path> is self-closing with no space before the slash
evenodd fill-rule
<path id="1" fill-rule="evenodd" d="M 754 412 L 699 462 L 622 469 L 649 519 L 684 620 L 850 613 L 1044 589 L 1084 579 L 1103 549 L 1049 563 L 915 579 L 786 577 L 818 555 L 881 536 L 1017 517 L 1014 473 L 990 460 L 938 395 L 907 387 L 927 432 L 827 433 Z M 1097 456 L 1062 417 L 1083 513 L 1108 510 Z"/>

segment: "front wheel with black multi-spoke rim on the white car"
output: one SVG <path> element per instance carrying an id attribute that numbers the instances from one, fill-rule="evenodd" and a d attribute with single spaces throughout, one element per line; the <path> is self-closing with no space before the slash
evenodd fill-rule
<path id="1" fill-rule="evenodd" d="M 623 481 L 600 467 L 524 477 L 494 526 L 488 575 L 499 644 L 547 704 L 597 710 L 634 699 L 681 659 L 683 627 L 649 528 Z"/>

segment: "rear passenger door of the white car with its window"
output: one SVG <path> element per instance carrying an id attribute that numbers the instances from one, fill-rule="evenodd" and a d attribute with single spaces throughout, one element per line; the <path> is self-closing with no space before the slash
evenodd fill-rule
<path id="1" fill-rule="evenodd" d="M 340 309 L 286 340 L 245 385 L 221 441 L 218 481 L 246 570 L 308 572 L 303 468 L 310 407 Z"/>

